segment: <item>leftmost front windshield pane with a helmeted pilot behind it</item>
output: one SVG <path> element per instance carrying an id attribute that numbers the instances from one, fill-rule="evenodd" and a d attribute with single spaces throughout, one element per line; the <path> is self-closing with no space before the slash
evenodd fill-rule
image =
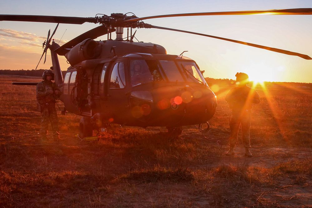
<path id="1" fill-rule="evenodd" d="M 163 81 L 156 60 L 130 60 L 131 85 Z"/>

